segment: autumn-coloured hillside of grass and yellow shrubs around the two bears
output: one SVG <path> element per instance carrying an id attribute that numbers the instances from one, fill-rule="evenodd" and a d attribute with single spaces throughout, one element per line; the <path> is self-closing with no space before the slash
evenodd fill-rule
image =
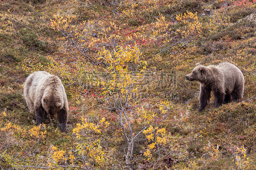
<path id="1" fill-rule="evenodd" d="M 255 169 L 255 54 L 255 0 L 2 0 L 0 169 Z M 198 113 L 185 75 L 221 62 L 243 72 L 244 100 Z M 36 126 L 36 70 L 62 80 L 69 133 Z"/>

